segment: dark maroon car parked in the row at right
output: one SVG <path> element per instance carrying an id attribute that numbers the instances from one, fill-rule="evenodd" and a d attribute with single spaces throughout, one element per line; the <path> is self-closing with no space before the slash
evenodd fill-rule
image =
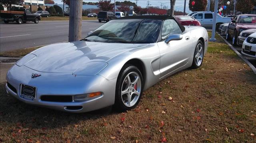
<path id="1" fill-rule="evenodd" d="M 226 39 L 232 39 L 232 44 L 237 44 L 237 37 L 246 29 L 256 28 L 256 15 L 255 14 L 241 14 L 238 15 L 228 25 L 228 33 Z"/>

